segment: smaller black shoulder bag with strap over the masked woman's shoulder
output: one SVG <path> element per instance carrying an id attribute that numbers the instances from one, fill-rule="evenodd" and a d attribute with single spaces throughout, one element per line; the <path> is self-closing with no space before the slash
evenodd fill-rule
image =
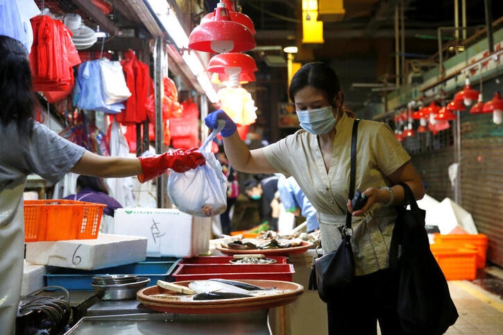
<path id="1" fill-rule="evenodd" d="M 349 199 L 352 199 L 355 193 L 358 122 L 358 119 L 355 120 L 352 128 Z M 339 292 L 346 290 L 355 278 L 351 219 L 352 215 L 348 211 L 346 225 L 341 228 L 342 240 L 339 247 L 321 257 L 313 258 L 309 289 L 318 289 L 318 295 L 324 302 L 327 302 L 329 297 L 336 297 Z"/>

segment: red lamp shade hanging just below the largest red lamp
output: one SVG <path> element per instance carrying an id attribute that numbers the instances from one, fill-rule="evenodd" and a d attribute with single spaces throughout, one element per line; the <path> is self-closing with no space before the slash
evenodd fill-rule
<path id="1" fill-rule="evenodd" d="M 256 72 L 257 64 L 252 56 L 239 52 L 226 52 L 213 56 L 208 62 L 207 72 L 237 74 L 240 72 Z"/>

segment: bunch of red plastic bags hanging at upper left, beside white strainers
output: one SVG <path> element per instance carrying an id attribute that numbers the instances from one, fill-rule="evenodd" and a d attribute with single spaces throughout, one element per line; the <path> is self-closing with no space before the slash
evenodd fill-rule
<path id="1" fill-rule="evenodd" d="M 61 21 L 49 15 L 31 19 L 33 45 L 30 66 L 35 91 L 65 91 L 73 88 L 72 67 L 80 64 L 80 57 L 71 31 Z"/>

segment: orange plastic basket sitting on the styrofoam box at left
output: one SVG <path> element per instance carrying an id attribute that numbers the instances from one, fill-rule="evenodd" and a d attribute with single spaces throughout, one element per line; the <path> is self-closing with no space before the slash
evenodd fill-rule
<path id="1" fill-rule="evenodd" d="M 104 204 L 75 200 L 25 200 L 24 240 L 76 240 L 98 237 Z"/>

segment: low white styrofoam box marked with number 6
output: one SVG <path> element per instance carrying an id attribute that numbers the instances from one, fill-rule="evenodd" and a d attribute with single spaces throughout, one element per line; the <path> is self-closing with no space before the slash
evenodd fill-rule
<path id="1" fill-rule="evenodd" d="M 144 261 L 144 236 L 98 234 L 92 240 L 58 240 L 26 243 L 26 261 L 62 268 L 95 270 Z"/>

